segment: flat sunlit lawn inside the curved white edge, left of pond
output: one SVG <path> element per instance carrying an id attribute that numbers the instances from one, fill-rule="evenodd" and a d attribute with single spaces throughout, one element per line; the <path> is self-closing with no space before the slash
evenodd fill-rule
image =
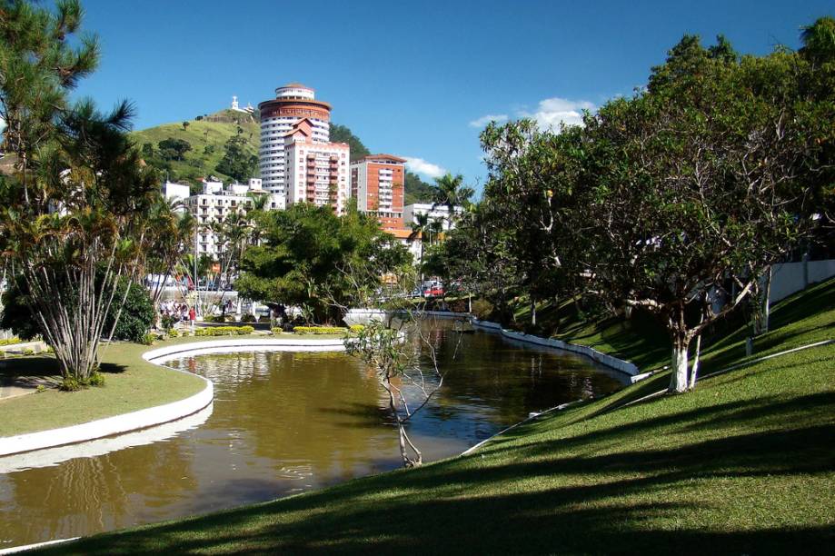
<path id="1" fill-rule="evenodd" d="M 80 392 L 49 389 L 0 400 L 0 437 L 66 427 L 183 400 L 202 391 L 205 383 L 194 375 L 174 372 L 144 361 L 144 352 L 178 343 L 248 338 L 263 340 L 266 336 L 185 337 L 156 342 L 154 346 L 136 343 L 106 345 L 102 348 L 103 387 Z M 303 341 L 304 338 L 325 339 L 324 336 L 297 334 L 282 334 L 280 338 L 288 342 Z M 7 360 L 4 365 L 0 375 L 6 377 L 59 374 L 58 364 L 50 356 Z"/>

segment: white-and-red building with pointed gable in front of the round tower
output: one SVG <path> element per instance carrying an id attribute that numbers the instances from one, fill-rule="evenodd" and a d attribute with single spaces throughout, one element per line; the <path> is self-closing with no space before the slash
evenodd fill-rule
<path id="1" fill-rule="evenodd" d="M 351 194 L 350 147 L 345 143 L 317 141 L 315 129 L 313 122 L 304 118 L 284 136 L 287 204 L 330 205 L 335 213 L 343 214 Z"/>

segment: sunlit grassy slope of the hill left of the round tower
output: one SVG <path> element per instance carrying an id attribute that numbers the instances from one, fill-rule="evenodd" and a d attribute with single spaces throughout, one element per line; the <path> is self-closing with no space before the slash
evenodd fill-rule
<path id="1" fill-rule="evenodd" d="M 225 114 L 227 111 L 222 111 Z M 222 113 L 218 113 L 223 115 Z M 204 120 L 188 120 L 188 127 L 183 129 L 183 124 L 161 124 L 156 127 L 135 131 L 131 134 L 138 146 L 144 143 L 151 143 L 154 149 L 157 144 L 169 137 L 184 139 L 192 145 L 192 150 L 185 154 L 185 161 L 173 161 L 172 169 L 181 178 L 204 177 L 209 174 L 220 175 L 214 168 L 224 157 L 224 144 L 237 133 L 237 124 L 225 124 L 220 122 L 206 122 Z M 249 141 L 252 154 L 258 154 L 258 146 L 261 144 L 261 128 L 256 123 L 241 124 L 244 129 L 244 137 Z M 207 133 L 208 132 L 208 133 Z M 207 144 L 214 145 L 214 153 L 204 154 Z"/>

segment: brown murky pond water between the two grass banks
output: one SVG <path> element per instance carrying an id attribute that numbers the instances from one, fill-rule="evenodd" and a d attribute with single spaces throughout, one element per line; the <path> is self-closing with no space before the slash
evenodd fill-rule
<path id="1" fill-rule="evenodd" d="M 411 425 L 430 461 L 626 378 L 491 333 L 445 327 L 432 341 L 447 378 Z M 0 458 L 0 549 L 266 501 L 398 465 L 383 390 L 343 353 L 168 364 L 212 379 L 214 407 L 167 428 Z"/>

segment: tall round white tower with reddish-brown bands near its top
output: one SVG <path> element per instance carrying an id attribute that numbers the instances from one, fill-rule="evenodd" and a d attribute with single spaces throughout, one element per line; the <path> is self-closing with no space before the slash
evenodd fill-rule
<path id="1" fill-rule="evenodd" d="M 275 98 L 258 104 L 258 109 L 261 111 L 259 158 L 263 188 L 273 194 L 287 194 L 284 136 L 306 118 L 312 126 L 312 140 L 328 143 L 331 105 L 317 101 L 310 87 L 291 83 L 275 89 Z"/>

